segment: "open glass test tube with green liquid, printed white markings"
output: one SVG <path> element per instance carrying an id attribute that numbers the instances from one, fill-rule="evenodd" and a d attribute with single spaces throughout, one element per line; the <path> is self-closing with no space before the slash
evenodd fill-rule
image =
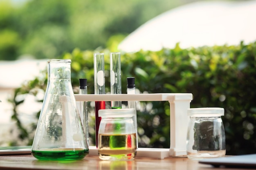
<path id="1" fill-rule="evenodd" d="M 110 93 L 122 94 L 120 52 L 110 52 Z M 112 109 L 121 109 L 121 101 L 111 101 Z"/>

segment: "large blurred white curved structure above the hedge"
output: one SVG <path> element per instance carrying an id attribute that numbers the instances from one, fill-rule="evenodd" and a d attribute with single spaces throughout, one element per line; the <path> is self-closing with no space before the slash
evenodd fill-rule
<path id="1" fill-rule="evenodd" d="M 237 45 L 242 40 L 256 40 L 256 0 L 200 1 L 171 9 L 128 35 L 119 50 Z"/>

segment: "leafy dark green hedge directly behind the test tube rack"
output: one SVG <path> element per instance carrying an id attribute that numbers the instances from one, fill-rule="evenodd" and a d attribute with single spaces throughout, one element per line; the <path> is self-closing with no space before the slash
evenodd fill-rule
<path id="1" fill-rule="evenodd" d="M 88 93 L 94 93 L 93 53 L 105 54 L 106 92 L 110 92 L 109 50 L 73 50 L 62 56 L 72 60 L 72 85 L 88 78 Z M 225 116 L 227 154 L 253 153 L 256 146 L 256 42 L 238 46 L 213 46 L 139 51 L 121 55 L 122 93 L 126 94 L 126 77 L 135 76 L 136 88 L 147 93 L 192 93 L 191 107 L 222 107 Z M 46 78 L 46 73 L 44 73 Z M 16 90 L 18 94 L 45 89 L 47 80 L 31 81 Z M 40 86 L 38 86 L 40 84 Z M 168 148 L 170 118 L 168 102 L 139 102 L 137 110 L 140 147 Z M 15 115 L 18 113 L 15 113 Z M 38 115 L 36 115 L 38 116 Z M 16 116 L 17 117 L 17 116 Z M 17 120 L 17 119 L 16 119 Z M 19 124 L 18 124 L 19 125 Z M 26 136 L 20 129 L 21 138 Z"/>

